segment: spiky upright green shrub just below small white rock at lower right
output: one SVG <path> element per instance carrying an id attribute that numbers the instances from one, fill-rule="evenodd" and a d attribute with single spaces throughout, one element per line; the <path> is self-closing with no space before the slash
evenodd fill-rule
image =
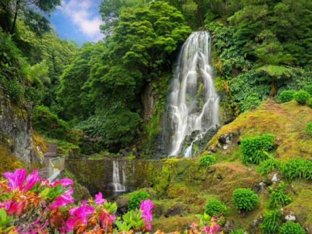
<path id="1" fill-rule="evenodd" d="M 291 202 L 291 198 L 284 193 L 285 184 L 280 182 L 278 188 L 270 188 L 268 207 L 271 209 L 281 208 Z"/>

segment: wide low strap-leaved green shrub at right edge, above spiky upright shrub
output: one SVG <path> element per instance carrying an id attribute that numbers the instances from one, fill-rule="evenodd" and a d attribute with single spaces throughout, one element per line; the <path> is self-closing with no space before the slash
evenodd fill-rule
<path id="1" fill-rule="evenodd" d="M 304 159 L 290 159 L 282 166 L 282 173 L 286 179 L 312 180 L 312 162 Z"/>

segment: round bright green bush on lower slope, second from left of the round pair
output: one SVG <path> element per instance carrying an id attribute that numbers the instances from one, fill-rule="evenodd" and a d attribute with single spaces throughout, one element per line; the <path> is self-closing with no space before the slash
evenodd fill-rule
<path id="1" fill-rule="evenodd" d="M 249 188 L 238 188 L 232 194 L 232 202 L 239 210 L 250 211 L 259 202 L 258 195 Z"/>

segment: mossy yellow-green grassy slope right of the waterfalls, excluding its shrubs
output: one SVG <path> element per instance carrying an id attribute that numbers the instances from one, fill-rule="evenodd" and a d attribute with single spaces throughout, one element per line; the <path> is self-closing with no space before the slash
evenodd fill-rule
<path id="1" fill-rule="evenodd" d="M 305 133 L 304 128 L 310 121 L 312 109 L 307 106 L 299 106 L 295 102 L 277 104 L 274 101 L 266 101 L 260 107 L 243 113 L 235 121 L 219 129 L 207 146 L 216 145 L 221 134 L 232 132 L 237 134 L 237 137 L 228 149 L 219 149 L 214 153 L 217 164 L 209 169 L 199 167 L 196 160 L 167 160 L 167 167 L 164 166 L 162 177 L 154 186 L 157 195 L 153 197 L 153 201 L 158 214 L 155 215 L 153 226 L 164 231 L 182 231 L 186 224 L 196 221 L 194 214 L 201 213 L 206 200 L 213 197 L 221 199 L 229 207 L 225 218 L 233 227 L 245 228 L 250 233 L 260 233 L 259 226 L 252 227 L 251 223 L 268 210 L 268 189 L 258 192 L 261 202 L 251 212 L 239 214 L 230 201 L 235 188 L 255 189 L 259 182 L 268 179 L 257 173 L 256 165 L 242 164 L 237 141 L 246 136 L 273 133 L 276 136 L 277 148 L 274 156 L 277 159 L 307 159 L 312 155 L 312 137 Z M 310 181 L 288 181 L 288 195 L 293 202 L 285 207 L 295 211 L 300 224 L 309 229 L 312 229 L 311 185 Z M 165 211 L 175 206 L 182 207 L 182 214 L 165 217 Z"/>

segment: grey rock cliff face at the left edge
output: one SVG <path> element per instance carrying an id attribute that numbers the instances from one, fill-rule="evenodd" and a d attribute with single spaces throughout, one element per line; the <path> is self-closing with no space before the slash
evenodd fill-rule
<path id="1" fill-rule="evenodd" d="M 27 166 L 32 163 L 31 108 L 11 103 L 0 91 L 0 142 Z"/>

